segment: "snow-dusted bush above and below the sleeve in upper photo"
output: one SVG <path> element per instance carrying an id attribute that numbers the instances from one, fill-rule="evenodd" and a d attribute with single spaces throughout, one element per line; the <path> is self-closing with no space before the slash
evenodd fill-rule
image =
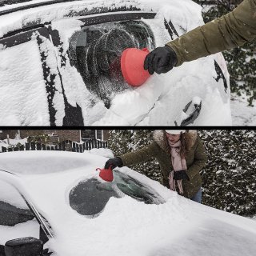
<path id="1" fill-rule="evenodd" d="M 242 0 L 194 0 L 203 6 L 202 16 L 205 22 L 221 17 L 233 10 Z M 256 99 L 256 40 L 233 50 L 222 52 L 230 73 L 232 93 L 247 98 L 249 106 L 254 106 Z"/>

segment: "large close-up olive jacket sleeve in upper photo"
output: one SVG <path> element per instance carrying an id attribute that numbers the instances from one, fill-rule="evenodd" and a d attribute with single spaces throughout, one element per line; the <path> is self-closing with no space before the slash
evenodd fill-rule
<path id="1" fill-rule="evenodd" d="M 176 66 L 183 62 L 242 46 L 256 38 L 256 0 L 244 0 L 229 14 L 168 42 L 177 54 Z"/>

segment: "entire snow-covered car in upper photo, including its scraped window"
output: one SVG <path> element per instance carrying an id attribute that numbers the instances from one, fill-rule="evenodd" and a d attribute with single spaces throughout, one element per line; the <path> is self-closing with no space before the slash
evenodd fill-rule
<path id="1" fill-rule="evenodd" d="M 0 7 L 0 124 L 231 125 L 222 54 L 132 87 L 126 48 L 153 50 L 203 24 L 190 0 L 32 0 Z"/>

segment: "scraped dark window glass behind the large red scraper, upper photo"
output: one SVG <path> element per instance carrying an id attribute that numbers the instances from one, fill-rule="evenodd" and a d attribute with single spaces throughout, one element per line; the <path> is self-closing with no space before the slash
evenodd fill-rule
<path id="1" fill-rule="evenodd" d="M 155 48 L 154 34 L 145 22 L 110 22 L 84 26 L 70 38 L 69 57 L 90 92 L 109 106 L 111 94 L 129 88 L 121 72 L 126 48 Z"/>

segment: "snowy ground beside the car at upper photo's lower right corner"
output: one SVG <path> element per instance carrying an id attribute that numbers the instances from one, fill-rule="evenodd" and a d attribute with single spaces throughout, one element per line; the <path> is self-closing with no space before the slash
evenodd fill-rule
<path id="1" fill-rule="evenodd" d="M 256 126 L 256 106 L 248 106 L 246 99 L 231 95 L 233 126 Z"/>

